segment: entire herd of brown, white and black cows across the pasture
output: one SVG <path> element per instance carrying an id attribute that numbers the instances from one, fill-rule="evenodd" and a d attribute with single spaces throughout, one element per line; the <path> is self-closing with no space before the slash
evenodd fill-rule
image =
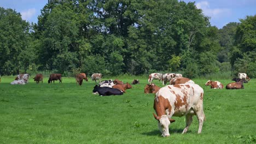
<path id="1" fill-rule="evenodd" d="M 11 85 L 24 85 L 28 83 L 29 77 L 30 75 L 28 74 L 20 74 L 16 76 L 13 82 L 11 82 Z M 114 81 L 101 81 L 101 78 L 102 74 L 100 73 L 91 75 L 91 81 L 98 81 L 98 85 L 95 85 L 92 90 L 94 94 L 99 94 L 101 96 L 121 95 L 126 92 L 126 89 L 132 88 L 128 82 L 123 83 L 118 79 L 115 79 Z M 43 82 L 43 75 L 37 74 L 33 79 L 36 83 L 39 83 L 40 81 Z M 48 83 L 51 83 L 52 81 L 55 82 L 56 80 L 62 82 L 61 74 L 51 74 Z M 167 82 L 169 82 L 168 84 L 170 85 L 160 88 L 152 83 L 153 80 L 161 81 L 162 85 L 166 85 Z M 244 88 L 243 83 L 250 81 L 245 73 L 239 73 L 238 78 L 232 80 L 235 82 L 226 85 L 226 89 L 241 89 Z M 85 73 L 80 73 L 75 76 L 75 81 L 81 86 L 83 81 L 88 81 L 88 78 Z M 139 80 L 133 80 L 131 84 L 139 84 Z M 211 86 L 213 89 L 224 88 L 223 84 L 219 81 L 208 80 L 205 85 Z M 158 127 L 162 136 L 170 136 L 168 127 L 170 123 L 175 122 L 175 120 L 172 119 L 172 116 L 185 116 L 186 126 L 182 132 L 182 134 L 184 134 L 187 133 L 189 126 L 193 121 L 193 115 L 196 115 L 199 122 L 197 133 L 201 133 L 203 121 L 206 119 L 205 113 L 203 112 L 203 89 L 194 81 L 187 77 L 183 77 L 182 74 L 167 73 L 163 75 L 161 73 L 152 73 L 149 75 L 148 84 L 144 87 L 144 93 L 155 93 L 154 110 L 156 115 L 155 113 L 153 113 L 153 115 L 158 121 Z"/>

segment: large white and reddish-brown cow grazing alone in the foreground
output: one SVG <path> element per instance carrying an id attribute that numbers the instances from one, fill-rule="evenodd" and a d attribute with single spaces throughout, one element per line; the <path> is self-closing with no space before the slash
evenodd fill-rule
<path id="1" fill-rule="evenodd" d="M 158 120 L 158 127 L 162 136 L 170 136 L 169 125 L 175 120 L 172 116 L 186 118 L 186 127 L 182 134 L 187 133 L 193 120 L 197 116 L 199 122 L 198 134 L 202 131 L 205 113 L 203 112 L 203 89 L 196 84 L 167 85 L 155 94 L 153 113 Z"/>

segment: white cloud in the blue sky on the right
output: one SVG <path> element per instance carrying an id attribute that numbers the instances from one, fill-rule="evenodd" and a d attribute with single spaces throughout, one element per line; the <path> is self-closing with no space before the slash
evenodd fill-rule
<path id="1" fill-rule="evenodd" d="M 205 14 L 207 16 L 211 16 L 212 18 L 219 18 L 219 17 L 231 15 L 231 9 L 227 9 L 227 8 L 211 9 L 210 3 L 207 1 L 202 1 L 202 2 L 196 3 L 196 7 L 199 9 L 202 9 L 203 14 Z"/>

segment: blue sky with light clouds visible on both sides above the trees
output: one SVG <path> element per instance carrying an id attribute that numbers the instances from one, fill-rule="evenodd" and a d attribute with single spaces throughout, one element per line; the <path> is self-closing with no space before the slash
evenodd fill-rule
<path id="1" fill-rule="evenodd" d="M 191 0 L 183 0 L 190 2 Z M 222 28 L 229 22 L 239 22 L 247 15 L 256 14 L 256 0 L 194 0 L 203 14 L 210 16 L 212 26 Z M 0 7 L 15 9 L 22 19 L 37 23 L 37 16 L 48 0 L 0 0 Z"/>

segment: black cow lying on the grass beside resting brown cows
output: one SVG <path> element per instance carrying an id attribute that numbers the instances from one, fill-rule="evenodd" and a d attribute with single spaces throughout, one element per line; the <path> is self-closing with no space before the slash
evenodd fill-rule
<path id="1" fill-rule="evenodd" d="M 100 87 L 98 85 L 94 86 L 94 89 L 92 90 L 92 92 L 94 93 L 97 92 L 101 96 L 122 95 L 124 93 L 117 88 Z"/>

